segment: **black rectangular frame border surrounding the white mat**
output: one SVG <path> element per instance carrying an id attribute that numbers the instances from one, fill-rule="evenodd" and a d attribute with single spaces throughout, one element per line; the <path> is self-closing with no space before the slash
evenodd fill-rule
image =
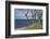
<path id="1" fill-rule="evenodd" d="M 46 20 L 47 20 L 47 31 L 46 34 L 26 34 L 26 35 L 11 35 L 11 10 L 10 4 L 28 4 L 28 5 L 46 5 Z M 40 2 L 20 2 L 20 1 L 5 1 L 5 38 L 18 38 L 18 37 L 38 37 L 49 35 L 49 3 Z"/>

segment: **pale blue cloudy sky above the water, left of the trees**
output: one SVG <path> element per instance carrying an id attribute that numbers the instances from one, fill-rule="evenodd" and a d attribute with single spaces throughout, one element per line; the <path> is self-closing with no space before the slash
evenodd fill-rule
<path id="1" fill-rule="evenodd" d="M 25 14 L 27 13 L 28 11 L 28 18 L 32 18 L 32 12 L 30 10 L 33 10 L 34 12 L 34 9 L 14 9 L 14 18 L 17 18 L 17 20 L 27 20 L 27 17 L 25 16 Z"/>

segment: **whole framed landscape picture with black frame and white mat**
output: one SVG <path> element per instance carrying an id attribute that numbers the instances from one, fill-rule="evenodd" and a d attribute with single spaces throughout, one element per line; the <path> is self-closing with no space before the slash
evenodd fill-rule
<path id="1" fill-rule="evenodd" d="M 5 1 L 5 38 L 48 36 L 48 3 Z"/>

